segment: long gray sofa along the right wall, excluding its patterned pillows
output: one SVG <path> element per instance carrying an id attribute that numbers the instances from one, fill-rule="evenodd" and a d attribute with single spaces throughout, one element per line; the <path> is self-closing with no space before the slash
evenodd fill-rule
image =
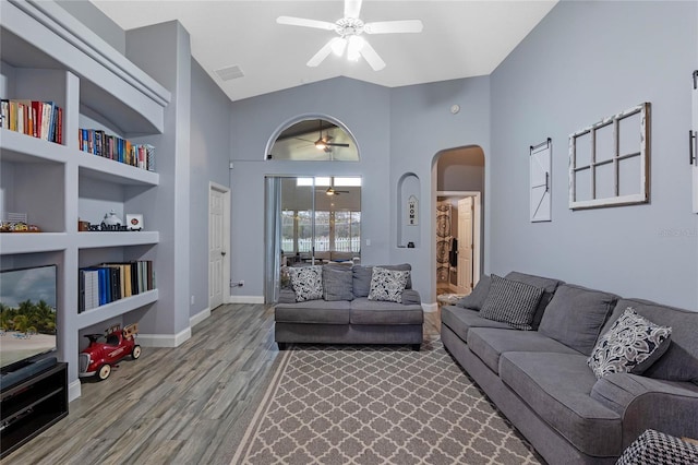
<path id="1" fill-rule="evenodd" d="M 505 278 L 543 289 L 533 331 L 483 318 L 492 299 L 484 277 L 457 306 L 442 308 L 442 339 L 543 458 L 615 463 L 646 429 L 698 438 L 698 312 L 524 273 Z M 628 307 L 672 329 L 665 351 L 646 360 L 641 374 L 597 378 L 588 359 Z"/>

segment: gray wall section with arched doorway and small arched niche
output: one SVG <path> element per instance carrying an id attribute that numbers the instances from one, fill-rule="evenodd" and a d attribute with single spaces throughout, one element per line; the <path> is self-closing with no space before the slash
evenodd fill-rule
<path id="1" fill-rule="evenodd" d="M 450 106 L 460 106 L 460 112 L 452 115 Z M 478 145 L 485 158 L 485 191 L 489 189 L 490 158 L 490 79 L 470 78 L 405 86 L 390 91 L 390 192 L 387 206 L 390 236 L 396 237 L 396 188 L 406 172 L 420 179 L 420 247 L 390 249 L 393 263 L 412 264 L 414 287 L 423 302 L 436 301 L 436 158 L 442 151 Z M 488 211 L 485 199 L 485 212 Z M 375 202 L 375 200 L 368 200 Z M 485 225 L 488 215 L 485 213 Z M 395 240 L 390 242 L 393 246 Z M 485 240 L 485 248 L 488 241 Z M 485 253 L 485 262 L 489 253 Z"/>

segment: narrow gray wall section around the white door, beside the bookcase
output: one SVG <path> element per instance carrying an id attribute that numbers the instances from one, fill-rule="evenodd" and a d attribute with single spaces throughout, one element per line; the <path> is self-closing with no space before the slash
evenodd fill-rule
<path id="1" fill-rule="evenodd" d="M 193 59 L 191 105 L 189 279 L 194 315 L 208 307 L 209 182 L 230 186 L 230 100 Z"/>

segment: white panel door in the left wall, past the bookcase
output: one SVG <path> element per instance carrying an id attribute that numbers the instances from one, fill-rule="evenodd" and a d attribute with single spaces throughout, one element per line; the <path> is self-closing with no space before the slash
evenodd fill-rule
<path id="1" fill-rule="evenodd" d="M 208 198 L 208 307 L 222 305 L 225 238 L 225 193 L 210 189 Z"/>

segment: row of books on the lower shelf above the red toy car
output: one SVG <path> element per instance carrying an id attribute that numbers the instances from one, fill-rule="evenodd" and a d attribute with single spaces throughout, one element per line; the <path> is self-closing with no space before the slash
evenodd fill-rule
<path id="1" fill-rule="evenodd" d="M 79 273 L 79 313 L 155 289 L 152 260 L 103 263 Z"/>

